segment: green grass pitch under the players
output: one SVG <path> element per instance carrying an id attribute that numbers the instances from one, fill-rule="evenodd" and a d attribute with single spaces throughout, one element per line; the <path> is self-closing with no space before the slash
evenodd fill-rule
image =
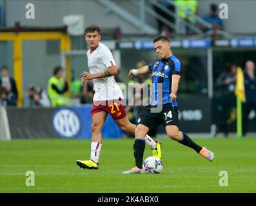
<path id="1" fill-rule="evenodd" d="M 122 174 L 134 165 L 133 139 L 103 140 L 99 170 L 75 163 L 90 157 L 90 140 L 1 141 L 0 192 L 256 192 L 256 138 L 193 140 L 215 161 L 163 138 L 161 174 Z M 34 171 L 34 187 L 26 186 L 26 171 Z M 220 171 L 228 172 L 228 187 L 219 185 Z"/>

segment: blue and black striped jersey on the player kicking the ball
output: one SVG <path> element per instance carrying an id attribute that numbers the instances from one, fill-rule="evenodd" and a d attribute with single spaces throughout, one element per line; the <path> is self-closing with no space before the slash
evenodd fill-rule
<path id="1" fill-rule="evenodd" d="M 182 64 L 174 55 L 168 59 L 156 59 L 148 66 L 152 72 L 152 91 L 150 93 L 150 102 L 148 106 L 157 106 L 157 104 L 172 104 L 172 107 L 178 106 L 177 100 L 172 102 L 169 97 L 172 93 L 172 75 L 181 75 Z M 159 86 L 162 88 L 159 88 Z M 162 91 L 162 102 L 159 101 L 159 92 Z"/>

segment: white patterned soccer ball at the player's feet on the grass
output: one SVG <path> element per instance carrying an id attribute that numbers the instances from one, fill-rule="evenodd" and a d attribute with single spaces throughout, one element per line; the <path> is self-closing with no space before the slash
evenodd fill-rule
<path id="1" fill-rule="evenodd" d="M 155 156 L 149 156 L 144 160 L 143 169 L 145 173 L 160 173 L 162 171 L 162 162 Z"/>

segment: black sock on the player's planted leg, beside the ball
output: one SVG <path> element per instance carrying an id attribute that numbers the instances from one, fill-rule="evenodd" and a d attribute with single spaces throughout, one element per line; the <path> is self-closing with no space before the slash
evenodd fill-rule
<path id="1" fill-rule="evenodd" d="M 133 144 L 133 154 L 135 157 L 135 165 L 140 169 L 143 168 L 143 153 L 145 149 L 144 139 L 135 139 Z"/>

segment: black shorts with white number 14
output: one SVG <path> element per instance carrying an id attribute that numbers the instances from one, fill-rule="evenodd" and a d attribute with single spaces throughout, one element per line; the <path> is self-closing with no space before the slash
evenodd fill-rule
<path id="1" fill-rule="evenodd" d="M 150 107 L 146 108 L 141 113 L 137 125 L 143 124 L 150 128 L 150 133 L 156 133 L 157 127 L 162 124 L 164 127 L 175 125 L 179 127 L 179 112 L 177 107 L 172 107 L 172 104 L 164 104 L 162 111 L 159 113 L 151 113 Z"/>

